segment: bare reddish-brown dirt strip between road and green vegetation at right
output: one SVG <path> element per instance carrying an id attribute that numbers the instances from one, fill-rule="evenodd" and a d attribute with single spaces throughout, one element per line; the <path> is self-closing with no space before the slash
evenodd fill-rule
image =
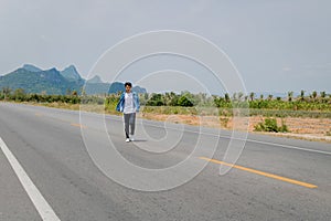
<path id="1" fill-rule="evenodd" d="M 162 114 L 142 114 L 140 115 L 147 119 L 171 122 L 177 124 L 189 124 L 195 126 L 207 126 L 222 129 L 237 129 L 254 131 L 254 126 L 264 122 L 261 116 L 252 116 L 247 118 L 232 118 L 217 116 L 190 116 L 190 115 L 162 115 Z M 301 138 L 307 140 L 321 140 L 331 143 L 331 119 L 329 118 L 277 118 L 280 126 L 281 122 L 287 125 L 289 133 L 263 133 L 275 136 Z"/>

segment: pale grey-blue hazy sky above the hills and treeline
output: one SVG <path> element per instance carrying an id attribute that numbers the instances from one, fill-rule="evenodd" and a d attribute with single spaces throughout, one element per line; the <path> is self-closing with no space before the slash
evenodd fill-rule
<path id="1" fill-rule="evenodd" d="M 0 74 L 25 63 L 44 70 L 74 64 L 89 78 L 124 39 L 178 30 L 220 48 L 247 92 L 331 93 L 330 21 L 329 0 L 0 0 Z M 126 71 L 140 73 L 132 81 L 149 92 L 221 91 L 192 61 L 160 55 L 138 63 Z"/>

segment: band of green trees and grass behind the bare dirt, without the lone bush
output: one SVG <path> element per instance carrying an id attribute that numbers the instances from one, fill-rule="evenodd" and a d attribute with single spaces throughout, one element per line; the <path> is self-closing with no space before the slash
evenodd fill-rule
<path id="1" fill-rule="evenodd" d="M 28 103 L 62 103 L 62 104 L 90 104 L 104 105 L 105 110 L 113 112 L 118 102 L 120 93 L 104 95 L 78 95 L 76 91 L 66 95 L 26 94 L 23 90 L 2 88 L 0 101 L 28 102 Z M 293 97 L 293 92 L 289 92 L 287 97 L 256 97 L 255 93 L 244 95 L 235 93 L 232 96 L 207 96 L 206 94 L 192 94 L 173 92 L 164 94 L 139 94 L 140 104 L 147 113 L 156 114 L 188 114 L 196 115 L 200 109 L 204 109 L 205 115 L 232 116 L 234 108 L 249 108 L 249 115 L 263 115 L 266 117 L 312 117 L 331 118 L 331 94 L 325 92 L 312 92 L 306 95 L 301 91 L 300 95 Z M 218 112 L 215 112 L 215 108 Z M 210 109 L 210 110 L 207 110 Z"/>

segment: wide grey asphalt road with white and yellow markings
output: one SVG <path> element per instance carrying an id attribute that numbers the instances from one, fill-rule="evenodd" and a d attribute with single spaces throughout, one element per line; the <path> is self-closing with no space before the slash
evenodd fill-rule
<path id="1" fill-rule="evenodd" d="M 137 141 L 126 144 L 121 117 L 106 116 L 104 126 L 99 119 L 104 116 L 86 113 L 81 122 L 78 112 L 0 103 L 1 221 L 331 220 L 330 144 L 248 135 L 235 166 L 221 176 L 220 166 L 231 166 L 223 161 L 229 131 L 205 129 L 199 139 L 196 127 L 139 119 Z M 103 156 L 100 148 L 109 147 L 105 128 L 122 159 L 150 170 L 179 165 L 196 146 L 205 149 L 188 160 L 188 172 L 145 179 Z M 204 164 L 185 183 L 154 191 Z M 111 179 L 114 171 L 118 177 Z"/>

